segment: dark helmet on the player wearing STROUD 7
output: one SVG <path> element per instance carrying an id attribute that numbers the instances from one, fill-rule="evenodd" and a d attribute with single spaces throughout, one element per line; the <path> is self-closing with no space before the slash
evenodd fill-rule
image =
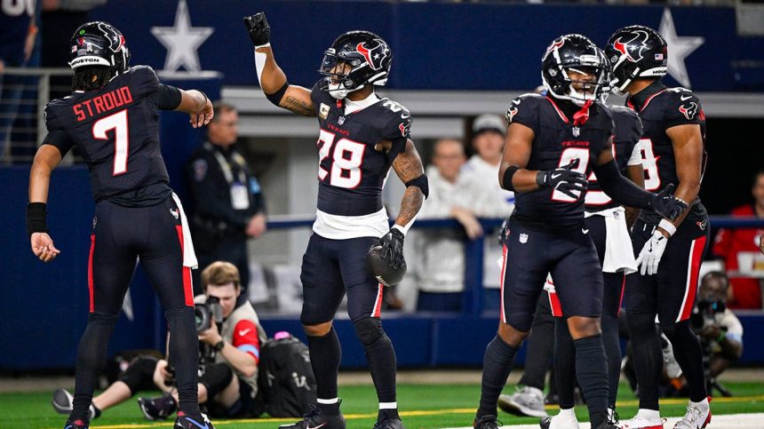
<path id="1" fill-rule="evenodd" d="M 130 63 L 124 36 L 103 21 L 88 22 L 77 28 L 71 47 L 69 67 L 74 70 L 84 66 L 104 66 L 119 75 L 127 71 Z"/>

